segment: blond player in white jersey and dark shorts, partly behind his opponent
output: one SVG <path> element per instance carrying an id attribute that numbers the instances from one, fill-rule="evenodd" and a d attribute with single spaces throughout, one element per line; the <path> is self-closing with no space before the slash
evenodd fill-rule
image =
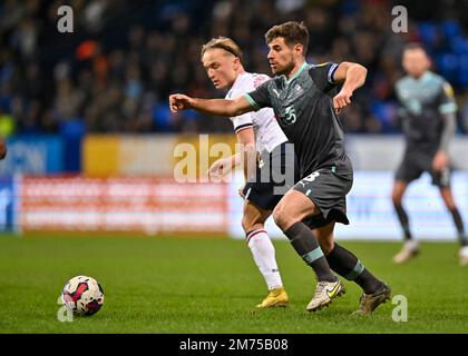
<path id="1" fill-rule="evenodd" d="M 241 49 L 230 38 L 212 39 L 202 48 L 202 63 L 216 89 L 230 89 L 226 99 L 242 97 L 270 79 L 265 75 L 246 72 L 241 57 Z M 282 196 L 295 184 L 298 169 L 294 150 L 270 108 L 232 117 L 231 120 L 237 144 L 243 149 L 234 156 L 215 161 L 209 167 L 209 175 L 221 179 L 233 167 L 244 162 L 246 184 L 240 189 L 240 195 L 244 198 L 242 227 L 255 264 L 269 288 L 266 298 L 257 307 L 286 306 L 287 294 L 281 279 L 275 249 L 264 224 Z M 259 162 L 257 156 L 261 157 Z M 280 176 L 286 178 L 276 179 Z M 282 192 L 275 190 L 275 187 L 282 187 Z"/>

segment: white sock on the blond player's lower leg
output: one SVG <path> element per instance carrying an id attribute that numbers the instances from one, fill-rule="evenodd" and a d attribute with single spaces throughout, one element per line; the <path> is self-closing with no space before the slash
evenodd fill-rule
<path id="1" fill-rule="evenodd" d="M 266 230 L 253 230 L 247 235 L 246 240 L 269 290 L 282 287 L 283 281 L 277 269 L 274 246 Z"/>

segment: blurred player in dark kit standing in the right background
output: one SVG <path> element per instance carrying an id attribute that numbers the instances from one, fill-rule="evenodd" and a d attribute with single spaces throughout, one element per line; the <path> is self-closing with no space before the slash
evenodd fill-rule
<path id="1" fill-rule="evenodd" d="M 428 171 L 454 219 L 461 245 L 460 265 L 468 266 L 468 239 L 450 189 L 448 145 L 456 129 L 457 112 L 454 90 L 443 78 L 429 70 L 430 59 L 420 44 L 410 43 L 404 48 L 402 65 L 408 76 L 397 82 L 396 93 L 401 105 L 399 112 L 407 148 L 396 174 L 392 200 L 406 243 L 393 261 L 406 263 L 419 253 L 402 198 L 409 184 Z"/>

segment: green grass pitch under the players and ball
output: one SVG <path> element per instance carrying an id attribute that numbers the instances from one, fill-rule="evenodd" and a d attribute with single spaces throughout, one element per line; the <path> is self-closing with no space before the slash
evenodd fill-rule
<path id="1" fill-rule="evenodd" d="M 111 235 L 0 236 L 0 333 L 467 333 L 468 268 L 455 243 L 422 244 L 403 266 L 391 263 L 396 243 L 342 241 L 393 295 L 408 300 L 408 322 L 393 322 L 397 305 L 351 316 L 360 288 L 329 308 L 305 310 L 315 280 L 286 241 L 274 241 L 290 306 L 256 310 L 266 289 L 242 240 Z M 98 279 L 105 305 L 92 317 L 57 319 L 57 298 L 76 275 Z"/>

